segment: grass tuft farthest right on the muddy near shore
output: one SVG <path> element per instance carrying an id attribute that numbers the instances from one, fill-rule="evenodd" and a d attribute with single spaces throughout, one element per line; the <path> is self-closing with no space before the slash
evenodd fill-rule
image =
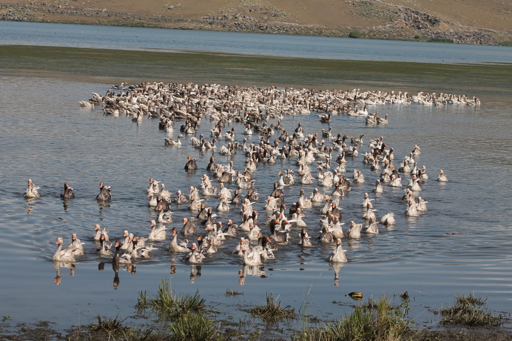
<path id="1" fill-rule="evenodd" d="M 456 303 L 450 308 L 441 308 L 441 324 L 469 327 L 499 327 L 503 315 L 494 315 L 485 307 L 485 300 L 475 294 L 455 295 Z"/>

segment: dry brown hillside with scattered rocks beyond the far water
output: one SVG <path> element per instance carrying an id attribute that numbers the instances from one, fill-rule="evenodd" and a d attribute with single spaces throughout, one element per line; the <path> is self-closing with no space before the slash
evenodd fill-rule
<path id="1" fill-rule="evenodd" d="M 0 19 L 216 31 L 451 39 L 497 45 L 512 40 L 510 0 L 0 0 Z"/>

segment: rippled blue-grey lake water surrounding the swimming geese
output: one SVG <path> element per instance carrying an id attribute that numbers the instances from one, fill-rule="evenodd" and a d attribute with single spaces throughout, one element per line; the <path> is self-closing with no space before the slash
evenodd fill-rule
<path id="1" fill-rule="evenodd" d="M 14 23 L 0 22 L 0 26 L 6 24 Z M 75 29 L 76 26 L 70 26 L 70 31 Z M 83 29 L 90 29 L 91 34 L 95 30 L 115 28 Z M 231 34 L 225 37 L 229 40 Z M 47 39 L 52 41 L 50 37 Z M 35 40 L 29 40 L 15 39 L 11 44 L 35 44 Z M 70 39 L 69 44 L 75 41 Z M 112 266 L 104 264 L 105 259 L 94 253 L 96 245 L 91 238 L 94 225 L 106 227 L 112 240 L 121 239 L 125 229 L 136 235 L 147 235 L 150 221 L 156 218 L 155 212 L 147 207 L 145 190 L 150 177 L 165 183 L 172 193 L 178 189 L 187 191 L 189 186 L 199 186 L 202 174 L 207 173 L 205 167 L 210 156 L 222 164 L 231 159 L 218 152 L 200 153 L 191 147 L 188 138 L 181 147 L 165 146 L 163 138 L 167 134 L 158 130 L 157 119 L 144 119 L 137 124 L 124 115 L 103 116 L 99 108 L 80 108 L 79 100 L 87 100 L 91 92 L 104 94 L 109 88 L 109 84 L 72 79 L 2 76 L 0 71 L 0 255 L 3 259 L 0 314 L 9 315 L 14 322 L 45 320 L 63 329 L 94 322 L 96 314 L 132 316 L 138 293 L 147 291 L 152 295 L 162 279 L 169 280 L 176 292 L 194 294 L 199 290 L 208 303 L 221 304 L 220 309 L 234 318 L 244 316 L 240 311 L 244 307 L 265 304 L 267 292 L 273 292 L 274 297 L 279 295 L 283 305 L 298 309 L 307 303 L 306 309 L 312 315 L 337 318 L 352 309 L 346 306 L 354 303 L 345 296 L 349 292 L 362 291 L 365 297 L 379 297 L 408 291 L 412 300 L 411 317 L 419 326 L 436 326 L 439 316 L 427 307 L 447 306 L 453 303 L 454 294 L 460 293 L 474 292 L 478 297 L 487 297 L 489 307 L 510 311 L 512 224 L 504 211 L 512 199 L 506 180 L 511 176 L 509 165 L 512 164 L 509 98 L 483 101 L 477 108 L 418 104 L 369 106 L 371 112 L 390 114 L 387 126 L 366 126 L 364 119 L 358 117 L 333 118 L 331 125 L 335 133 L 350 136 L 364 133 L 365 141 L 383 136 L 388 146 L 394 148 L 395 160 L 407 156 L 414 144 L 419 145 L 422 155 L 418 164 L 426 165 L 430 176 L 420 193 L 429 201 L 429 210 L 417 218 L 407 218 L 400 200 L 403 188 L 386 187 L 382 195 L 372 194 L 378 174 L 362 164 L 362 157 L 348 160 L 346 176 L 351 178 L 353 169 L 358 168 L 367 180 L 364 184 L 354 184 L 353 190 L 340 200 L 345 229 L 351 220 L 362 222 L 359 204 L 364 193 L 375 199 L 378 218 L 393 211 L 397 224 L 389 229 L 381 227 L 378 235 L 363 233 L 359 240 L 345 239 L 348 262 L 341 268 L 327 262 L 332 245 L 315 243 L 308 249 L 296 245 L 279 247 L 274 260 L 261 268 L 248 269 L 242 266 L 240 258 L 230 253 L 236 239 L 228 240 L 220 252 L 208 257 L 199 268 L 164 249 L 170 241 L 169 232 L 167 241 L 155 243 L 158 250 L 153 257 L 137 261 L 130 271 L 121 269 L 119 285 L 114 286 Z M 291 131 L 298 122 L 302 122 L 306 133 L 327 128 L 319 123 L 317 113 L 285 117 L 283 125 Z M 239 123 L 230 123 L 226 129 L 230 127 L 236 127 L 239 133 L 243 131 Z M 205 118 L 196 135 L 209 136 L 210 129 L 211 122 Z M 175 129 L 173 138 L 177 132 Z M 239 134 L 237 141 L 244 137 Z M 258 136 L 253 135 L 250 141 L 258 142 Z M 197 158 L 200 169 L 196 174 L 184 172 L 187 156 Z M 245 158 L 241 153 L 232 160 L 235 169 L 243 169 Z M 295 159 L 259 166 L 254 176 L 260 200 L 254 207 L 260 218 L 267 214 L 263 199 L 279 179 L 278 172 L 295 167 Z M 449 182 L 435 181 L 439 169 L 444 170 Z M 41 187 L 40 198 L 23 198 L 29 178 Z M 403 184 L 406 179 L 402 180 Z M 100 181 L 113 188 L 114 200 L 109 204 L 100 205 L 95 200 Z M 76 194 L 68 202 L 59 198 L 65 182 Z M 227 187 L 234 188 L 234 185 Z M 316 183 L 285 188 L 287 205 L 298 199 L 300 188 L 309 195 L 315 187 L 329 192 Z M 208 199 L 206 203 L 215 207 L 217 199 Z M 318 235 L 320 208 L 314 206 L 306 211 L 305 221 L 313 237 Z M 172 210 L 174 222 L 167 225 L 181 228 L 182 218 L 189 217 L 190 212 L 176 205 Z M 218 219 L 241 221 L 236 208 L 219 214 Z M 263 230 L 268 233 L 268 228 Z M 51 261 L 55 240 L 62 236 L 69 243 L 73 232 L 86 243 L 86 254 L 73 269 L 56 269 Z M 447 234 L 453 232 L 468 234 Z M 294 241 L 297 234 L 295 229 Z M 244 294 L 225 297 L 226 289 Z M 143 323 L 140 319 L 136 322 Z M 300 322 L 289 327 L 297 326 Z"/>

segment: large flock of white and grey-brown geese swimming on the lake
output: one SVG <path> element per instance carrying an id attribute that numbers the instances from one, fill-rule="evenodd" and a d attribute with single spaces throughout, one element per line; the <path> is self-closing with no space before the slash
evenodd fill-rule
<path id="1" fill-rule="evenodd" d="M 113 88 L 119 89 L 119 86 Z M 180 131 L 176 140 L 164 138 L 162 144 L 185 144 L 197 151 L 211 151 L 212 156 L 206 165 L 198 165 L 191 156 L 183 160 L 181 172 L 201 174 L 197 185 L 183 193 L 177 190 L 172 194 L 163 182 L 150 179 L 145 195 L 155 217 L 148 236 L 135 236 L 125 230 L 122 240 L 110 241 L 109 232 L 100 225 L 95 226 L 91 239 L 96 242 L 96 252 L 120 264 L 152 257 L 156 249 L 152 242 L 166 241 L 167 231 L 171 234 L 167 250 L 182 253 L 183 261 L 190 264 L 201 264 L 221 251 L 237 254 L 244 265 L 262 265 L 267 259 L 275 258 L 280 245 L 312 247 L 321 243 L 333 246 L 327 259 L 329 263 L 347 262 L 342 241 L 361 238 L 361 233 L 379 233 L 380 228 L 395 224 L 395 213 L 388 212 L 377 218 L 373 199 L 364 193 L 360 204 L 361 221 L 350 221 L 345 229 L 340 199 L 351 192 L 354 184 L 366 182 L 364 173 L 368 169 L 379 175 L 372 190 L 374 194 L 383 193 L 385 186 L 402 187 L 402 214 L 419 216 L 427 210 L 428 201 L 419 195 L 429 179 L 426 167 L 415 160 L 421 155 L 420 147 L 414 145 L 408 155 L 397 161 L 394 149 L 382 136 L 364 142 L 364 134 L 359 137 L 333 134 L 331 126 L 322 132 L 307 134 L 301 123 L 288 132 L 282 126 L 286 115 L 316 112 L 319 120 L 329 125 L 337 115 L 362 116 L 367 125 L 376 125 L 388 124 L 389 115 L 379 117 L 377 112 L 369 113 L 369 104 L 479 103 L 476 97 L 422 92 L 410 96 L 401 92 L 360 92 L 358 89 L 263 89 L 177 83 L 141 83 L 123 88 L 122 91 L 108 90 L 104 96 L 93 93 L 93 98 L 80 101 L 80 105 L 101 106 L 104 115 L 122 114 L 136 122 L 142 117 L 156 118 L 160 130 L 169 134 Z M 203 120 L 211 122 L 209 138 L 199 133 Z M 244 131 L 239 133 L 234 127 L 226 129 L 230 122 L 242 123 Z M 248 142 L 252 135 L 259 136 L 258 143 Z M 217 145 L 218 142 L 224 144 Z M 369 152 L 359 153 L 363 145 L 369 147 Z M 245 167 L 234 169 L 232 159 L 227 164 L 217 163 L 215 154 L 227 156 L 228 160 L 243 155 Z M 348 172 L 348 159 L 360 160 L 361 166 Z M 296 167 L 279 171 L 273 179 L 273 188 L 260 197 L 259 190 L 263 193 L 263 189 L 253 178 L 254 174 L 265 164 L 283 160 L 294 160 Z M 437 181 L 448 181 L 442 170 Z M 302 189 L 298 198 L 285 197 L 286 187 L 302 184 L 317 184 L 317 188 L 308 194 Z M 29 179 L 25 198 L 38 197 L 38 189 Z M 68 183 L 64 184 L 61 198 L 74 198 L 73 188 Z M 111 201 L 111 187 L 101 182 L 96 200 Z M 217 203 L 211 207 L 205 204 L 214 200 Z M 265 219 L 260 218 L 260 212 L 253 207 L 261 200 L 265 201 L 266 214 L 262 215 Z M 189 211 L 189 217 L 183 219 L 181 226 L 167 227 L 173 223 L 172 209 Z M 307 226 L 304 218 L 308 211 L 318 213 L 317 225 Z M 231 219 L 219 221 L 219 212 L 230 212 Z M 191 238 L 192 243 L 188 241 Z M 227 250 L 225 241 L 230 238 L 237 238 L 238 242 L 236 247 Z M 55 261 L 75 262 L 83 254 L 84 243 L 75 234 L 69 246 L 63 245 L 62 237 L 56 243 Z"/>

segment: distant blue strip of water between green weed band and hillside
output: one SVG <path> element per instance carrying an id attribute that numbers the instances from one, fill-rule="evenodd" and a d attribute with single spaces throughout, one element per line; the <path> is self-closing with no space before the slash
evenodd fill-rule
<path id="1" fill-rule="evenodd" d="M 0 22 L 0 31 L 2 45 L 216 51 L 287 57 L 429 63 L 510 63 L 512 60 L 512 48 L 509 47 L 425 44 L 415 41 L 18 22 Z"/>

